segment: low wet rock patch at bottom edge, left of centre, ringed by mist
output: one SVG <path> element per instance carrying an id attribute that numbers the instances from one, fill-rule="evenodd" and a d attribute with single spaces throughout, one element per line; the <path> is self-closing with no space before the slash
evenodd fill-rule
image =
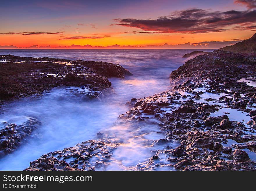
<path id="1" fill-rule="evenodd" d="M 30 162 L 25 170 L 95 170 L 106 167 L 114 149 L 120 143 L 108 140 L 89 140 L 75 147 L 65 148 L 42 155 L 39 159 Z M 73 160 L 70 160 L 73 159 Z"/>

